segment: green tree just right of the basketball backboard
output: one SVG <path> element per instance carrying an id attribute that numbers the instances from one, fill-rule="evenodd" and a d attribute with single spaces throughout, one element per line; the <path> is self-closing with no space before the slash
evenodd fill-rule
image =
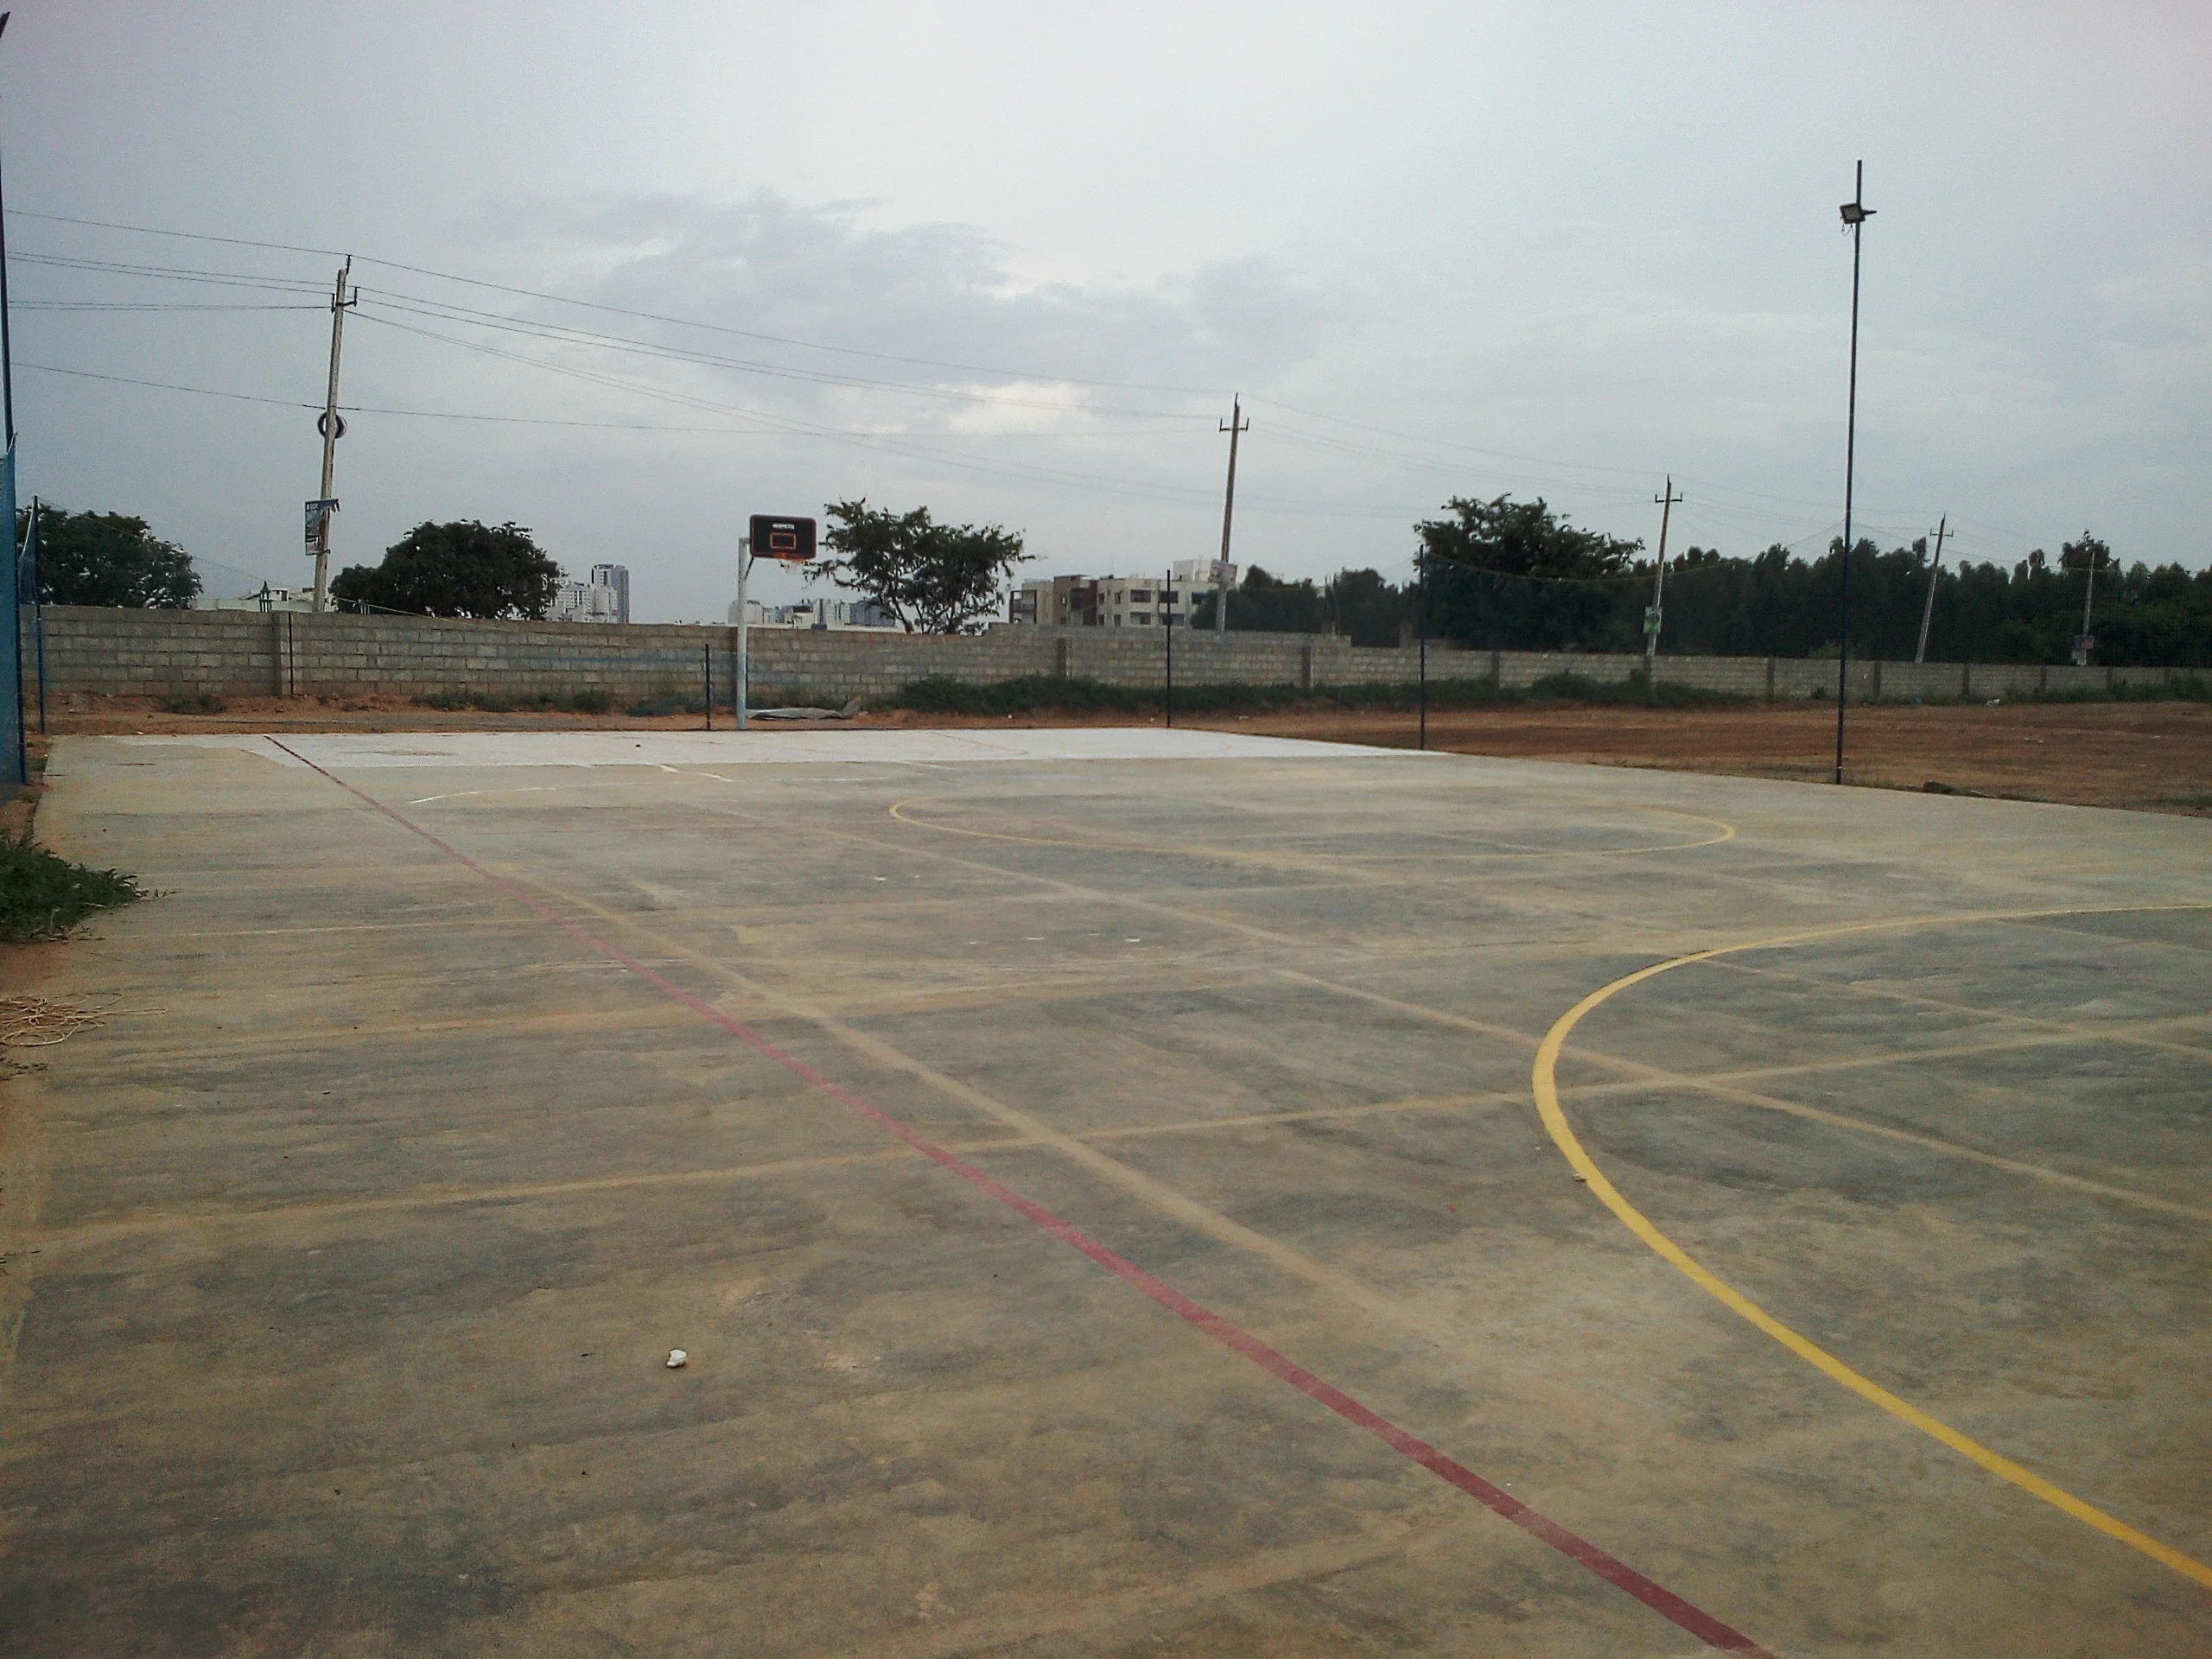
<path id="1" fill-rule="evenodd" d="M 1022 557 L 1022 538 L 998 524 L 936 524 L 927 507 L 911 513 L 872 509 L 867 500 L 827 502 L 834 520 L 807 580 L 830 577 L 880 604 L 907 633 L 969 633 L 993 617 L 1000 586 Z"/>

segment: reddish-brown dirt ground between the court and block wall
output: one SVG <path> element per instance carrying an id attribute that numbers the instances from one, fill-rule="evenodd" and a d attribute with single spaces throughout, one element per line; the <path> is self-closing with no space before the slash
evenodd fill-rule
<path id="1" fill-rule="evenodd" d="M 400 699 L 343 703 L 239 699 L 221 714 L 166 714 L 148 699 L 104 697 L 53 710 L 55 732 L 372 732 L 372 730 L 699 730 L 699 714 L 487 714 Z M 726 726 L 721 714 L 717 726 Z M 1128 714 L 1015 719 L 860 714 L 854 726 L 1128 726 Z M 1208 714 L 1177 721 L 1338 743 L 1413 743 L 1411 712 Z M 1668 772 L 1820 779 L 1834 768 L 1836 712 L 1809 703 L 1730 708 L 1517 706 L 1429 714 L 1429 748 Z M 1847 717 L 1845 781 L 2017 801 L 2212 816 L 2212 708 L 2203 703 L 1882 706 Z M 1938 790 L 1938 792 L 1940 792 Z"/>

